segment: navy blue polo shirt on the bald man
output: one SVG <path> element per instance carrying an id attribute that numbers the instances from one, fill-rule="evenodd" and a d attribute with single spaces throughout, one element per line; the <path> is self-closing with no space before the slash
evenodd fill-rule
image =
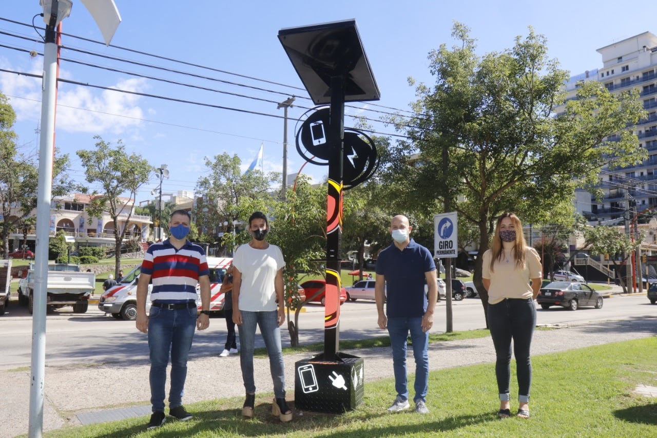
<path id="1" fill-rule="evenodd" d="M 425 272 L 436 270 L 428 249 L 413 239 L 403 249 L 393 243 L 378 255 L 376 274 L 386 279 L 388 318 L 422 316 L 426 312 Z"/>

